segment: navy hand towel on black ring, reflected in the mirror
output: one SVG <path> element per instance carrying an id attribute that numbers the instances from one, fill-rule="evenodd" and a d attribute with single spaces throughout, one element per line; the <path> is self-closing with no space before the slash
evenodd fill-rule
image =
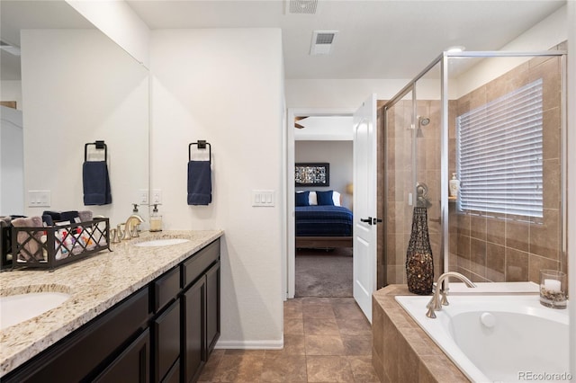
<path id="1" fill-rule="evenodd" d="M 85 205 L 107 205 L 112 203 L 108 165 L 105 161 L 86 161 L 82 165 Z"/>

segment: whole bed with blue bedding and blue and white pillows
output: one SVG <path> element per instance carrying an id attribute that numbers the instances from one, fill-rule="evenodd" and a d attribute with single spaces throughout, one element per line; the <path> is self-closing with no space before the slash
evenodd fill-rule
<path id="1" fill-rule="evenodd" d="M 297 248 L 352 247 L 352 211 L 337 191 L 296 192 L 295 222 Z"/>

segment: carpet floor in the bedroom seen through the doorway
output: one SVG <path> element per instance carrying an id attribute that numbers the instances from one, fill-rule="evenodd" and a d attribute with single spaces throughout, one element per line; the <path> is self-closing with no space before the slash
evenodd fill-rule
<path id="1" fill-rule="evenodd" d="M 352 297 L 352 249 L 297 249 L 295 295 Z"/>

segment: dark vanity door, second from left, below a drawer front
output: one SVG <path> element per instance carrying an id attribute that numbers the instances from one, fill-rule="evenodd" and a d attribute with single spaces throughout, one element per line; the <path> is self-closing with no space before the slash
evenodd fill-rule
<path id="1" fill-rule="evenodd" d="M 161 381 L 180 356 L 180 301 L 166 308 L 153 323 L 154 381 Z"/>

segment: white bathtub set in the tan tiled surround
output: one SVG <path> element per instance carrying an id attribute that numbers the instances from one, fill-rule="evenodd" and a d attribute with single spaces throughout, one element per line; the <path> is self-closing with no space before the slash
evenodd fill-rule
<path id="1" fill-rule="evenodd" d="M 538 295 L 460 295 L 430 319 L 430 298 L 396 300 L 473 382 L 571 381 L 569 310 Z"/>

